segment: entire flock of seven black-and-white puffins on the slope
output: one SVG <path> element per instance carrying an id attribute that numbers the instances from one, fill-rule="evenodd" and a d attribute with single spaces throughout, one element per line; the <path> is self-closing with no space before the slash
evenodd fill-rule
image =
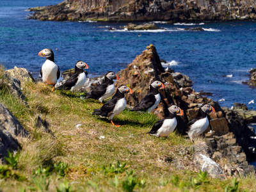
<path id="1" fill-rule="evenodd" d="M 51 49 L 43 49 L 38 53 L 38 56 L 45 57 L 46 61 L 42 65 L 40 74 L 42 76 L 44 85 L 51 84 L 52 91 L 54 91 L 54 86 L 60 78 L 60 68 L 54 63 L 54 53 Z M 75 73 L 67 79 L 67 81 L 58 86 L 58 89 L 70 90 L 75 92 L 81 88 L 86 81 L 86 74 L 83 68 L 89 68 L 84 61 L 77 61 L 75 66 Z M 132 94 L 131 88 L 122 84 L 116 90 L 115 95 L 115 83 L 113 79 L 118 80 L 119 77 L 115 72 L 107 72 L 105 76 L 104 83 L 99 84 L 90 93 L 86 93 L 85 99 L 97 99 L 102 104 L 100 109 L 93 109 L 92 115 L 98 115 L 102 118 L 109 118 L 111 124 L 119 127 L 120 125 L 114 124 L 113 117 L 122 113 L 126 106 L 126 100 L 124 94 Z M 163 89 L 164 84 L 160 81 L 154 81 L 149 86 L 148 94 L 141 99 L 141 101 L 132 109 L 131 111 L 147 111 L 150 113 L 161 100 L 158 89 Z M 103 100 L 108 97 L 113 97 L 103 104 Z M 209 120 L 207 118 L 207 113 L 215 112 L 215 109 L 210 104 L 202 104 L 198 111 L 198 115 L 193 120 L 189 121 L 184 127 L 184 131 L 188 133 L 189 138 L 193 139 L 195 136 L 202 134 L 209 125 Z M 179 106 L 172 104 L 168 108 L 168 115 L 166 115 L 162 120 L 157 121 L 151 131 L 147 132 L 150 135 L 157 136 L 157 138 L 168 137 L 171 132 L 177 127 L 176 115 L 183 115 L 182 109 Z"/>

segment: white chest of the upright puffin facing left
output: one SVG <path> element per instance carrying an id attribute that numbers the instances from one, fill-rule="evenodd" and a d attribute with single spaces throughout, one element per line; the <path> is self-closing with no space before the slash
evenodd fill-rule
<path id="1" fill-rule="evenodd" d="M 44 83 L 56 84 L 57 83 L 58 66 L 50 61 L 46 60 L 42 65 L 42 79 Z"/>

